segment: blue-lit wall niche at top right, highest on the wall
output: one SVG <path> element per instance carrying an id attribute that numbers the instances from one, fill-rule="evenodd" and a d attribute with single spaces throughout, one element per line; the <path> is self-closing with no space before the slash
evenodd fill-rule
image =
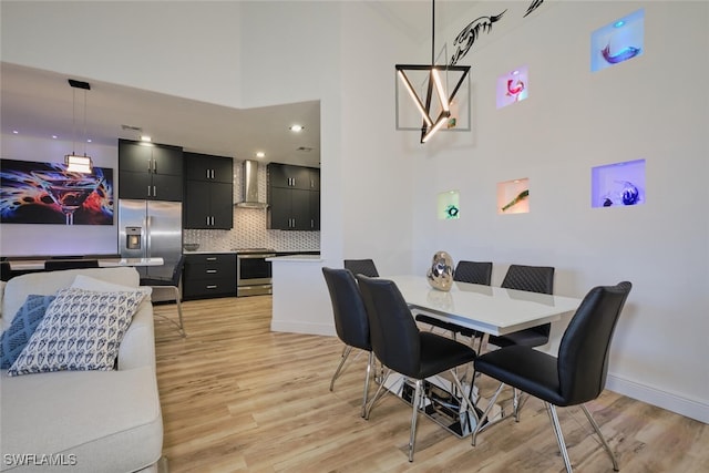
<path id="1" fill-rule="evenodd" d="M 644 52 L 645 10 L 640 9 L 592 33 L 590 70 L 600 71 Z"/>

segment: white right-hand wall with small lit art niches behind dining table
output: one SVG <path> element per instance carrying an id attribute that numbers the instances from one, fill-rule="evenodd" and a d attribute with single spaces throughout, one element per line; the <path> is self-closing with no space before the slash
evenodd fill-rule
<path id="1" fill-rule="evenodd" d="M 494 261 L 493 284 L 512 263 L 555 266 L 561 295 L 633 281 L 608 387 L 707 422 L 709 95 L 689 84 L 709 73 L 709 7 L 556 2 L 523 20 L 526 4 L 505 6 L 510 21 L 462 61 L 473 65 L 473 133 L 436 136 L 445 148 L 417 158 L 415 269 L 445 249 Z M 471 19 L 505 6 L 485 2 Z M 645 53 L 592 73 L 590 33 L 639 8 Z M 530 97 L 497 110 L 497 76 L 523 65 Z M 590 208 L 592 167 L 638 158 L 646 160 L 647 202 Z M 497 215 L 496 184 L 523 177 L 531 212 Z M 448 189 L 461 192 L 460 220 L 435 217 L 436 193 Z"/>

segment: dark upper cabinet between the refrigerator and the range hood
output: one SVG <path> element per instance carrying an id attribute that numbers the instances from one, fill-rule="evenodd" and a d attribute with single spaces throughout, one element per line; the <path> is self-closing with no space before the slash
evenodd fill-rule
<path id="1" fill-rule="evenodd" d="M 185 153 L 185 228 L 234 226 L 233 164 L 230 157 Z"/>

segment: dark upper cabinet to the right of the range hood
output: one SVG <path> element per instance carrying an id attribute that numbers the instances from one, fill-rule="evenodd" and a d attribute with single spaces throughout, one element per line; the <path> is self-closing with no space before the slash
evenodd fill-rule
<path id="1" fill-rule="evenodd" d="M 268 165 L 268 228 L 320 229 L 320 169 Z"/>

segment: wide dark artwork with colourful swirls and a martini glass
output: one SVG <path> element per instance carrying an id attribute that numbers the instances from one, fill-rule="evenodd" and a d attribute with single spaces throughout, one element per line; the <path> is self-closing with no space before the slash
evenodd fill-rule
<path id="1" fill-rule="evenodd" d="M 113 225 L 113 169 L 70 173 L 63 163 L 0 160 L 3 224 Z"/>

